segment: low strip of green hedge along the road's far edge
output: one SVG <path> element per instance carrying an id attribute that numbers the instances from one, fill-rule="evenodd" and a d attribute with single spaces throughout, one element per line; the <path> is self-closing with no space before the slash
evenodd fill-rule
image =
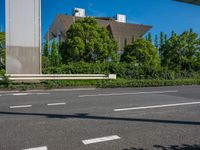
<path id="1" fill-rule="evenodd" d="M 156 87 L 156 86 L 182 86 L 200 85 L 200 79 L 182 80 L 59 80 L 45 81 L 41 83 L 10 83 L 1 89 L 10 90 L 33 90 L 52 88 L 96 87 L 96 88 L 126 88 L 126 87 Z"/>

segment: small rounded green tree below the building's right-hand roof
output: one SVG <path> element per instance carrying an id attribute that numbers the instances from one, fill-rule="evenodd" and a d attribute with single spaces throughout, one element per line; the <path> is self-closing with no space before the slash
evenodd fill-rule
<path id="1" fill-rule="evenodd" d="M 144 39 L 138 39 L 125 48 L 122 62 L 137 65 L 159 66 L 160 60 L 156 48 Z"/>

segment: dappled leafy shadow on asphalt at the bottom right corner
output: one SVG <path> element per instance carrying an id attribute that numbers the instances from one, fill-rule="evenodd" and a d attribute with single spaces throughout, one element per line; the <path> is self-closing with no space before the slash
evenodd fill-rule
<path id="1" fill-rule="evenodd" d="M 170 145 L 170 146 L 161 146 L 161 145 L 153 145 L 153 149 L 155 150 L 200 150 L 200 145 L 188 145 L 188 144 L 182 144 L 182 145 Z M 148 150 L 144 148 L 126 148 L 123 150 Z"/>

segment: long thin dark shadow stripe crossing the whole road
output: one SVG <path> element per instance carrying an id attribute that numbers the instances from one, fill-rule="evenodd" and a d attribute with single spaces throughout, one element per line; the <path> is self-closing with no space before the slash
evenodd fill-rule
<path id="1" fill-rule="evenodd" d="M 89 115 L 87 113 L 78 113 L 78 114 L 66 115 L 66 114 L 22 113 L 22 112 L 3 112 L 3 111 L 0 111 L 0 115 L 42 116 L 42 117 L 57 118 L 57 119 L 76 118 L 76 119 L 87 119 L 87 120 L 111 120 L 111 121 L 146 122 L 146 123 L 159 123 L 159 124 L 197 125 L 197 126 L 200 125 L 200 122 L 194 122 L 194 121 L 94 116 L 94 115 Z"/>

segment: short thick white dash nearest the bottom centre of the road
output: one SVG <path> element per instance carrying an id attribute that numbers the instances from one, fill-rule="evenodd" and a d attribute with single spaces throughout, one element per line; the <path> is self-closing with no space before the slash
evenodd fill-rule
<path id="1" fill-rule="evenodd" d="M 101 138 L 95 138 L 95 139 L 88 139 L 88 140 L 82 140 L 83 144 L 94 144 L 94 143 L 100 143 L 100 142 L 106 142 L 106 141 L 113 141 L 120 139 L 117 135 L 107 136 L 107 137 L 101 137 Z"/>

